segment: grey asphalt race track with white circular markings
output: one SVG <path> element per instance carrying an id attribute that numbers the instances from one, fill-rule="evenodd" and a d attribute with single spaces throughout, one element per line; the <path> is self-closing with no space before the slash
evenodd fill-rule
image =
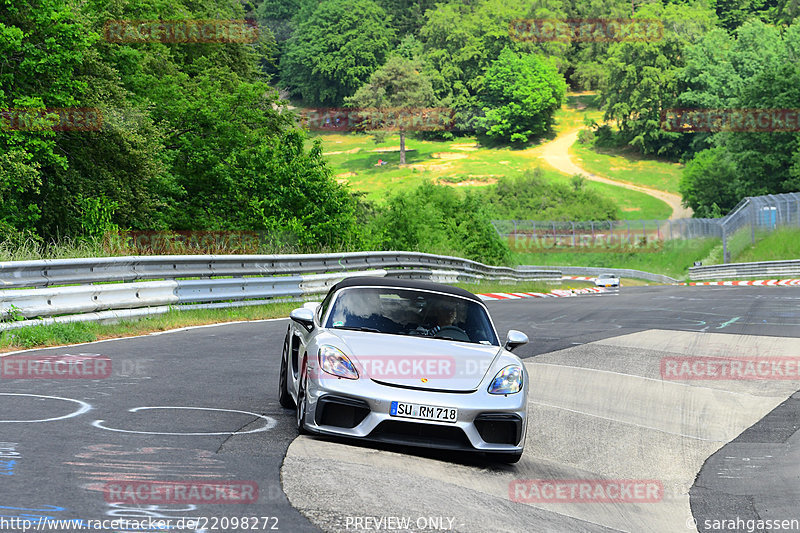
<path id="1" fill-rule="evenodd" d="M 531 338 L 518 349 L 531 405 L 516 465 L 297 438 L 276 393 L 286 321 L 190 328 L 11 356 L 103 360 L 110 372 L 0 380 L 0 531 L 122 518 L 152 520 L 138 531 L 209 532 L 748 531 L 747 520 L 800 520 L 800 380 L 662 377 L 665 360 L 800 357 L 800 288 L 623 287 L 487 305 L 502 335 Z M 525 480 L 661 490 L 535 501 L 518 490 Z M 113 497 L 142 482 L 258 492 L 253 503 Z M 181 518 L 197 523 L 178 529 Z"/>

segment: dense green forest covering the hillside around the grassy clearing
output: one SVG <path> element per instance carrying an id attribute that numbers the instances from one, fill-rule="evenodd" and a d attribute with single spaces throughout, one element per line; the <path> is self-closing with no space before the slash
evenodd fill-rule
<path id="1" fill-rule="evenodd" d="M 297 250 L 501 261 L 491 217 L 563 218 L 574 214 L 565 202 L 585 219 L 619 213 L 535 175 L 461 195 L 429 185 L 376 206 L 333 179 L 288 103 L 446 107 L 455 128 L 419 135 L 521 146 L 548 132 L 567 88 L 598 91 L 598 142 L 687 163 L 685 202 L 696 216 L 724 214 L 743 196 L 800 190 L 800 133 L 665 131 L 661 113 L 800 108 L 798 15 L 800 0 L 4 0 L 0 113 L 91 108 L 102 127 L 4 122 L 0 237 L 259 230 Z M 631 17 L 660 21 L 663 36 L 537 42 L 509 31 L 519 19 Z M 257 31 L 108 38 L 109 21 L 189 19 L 254 19 Z"/>

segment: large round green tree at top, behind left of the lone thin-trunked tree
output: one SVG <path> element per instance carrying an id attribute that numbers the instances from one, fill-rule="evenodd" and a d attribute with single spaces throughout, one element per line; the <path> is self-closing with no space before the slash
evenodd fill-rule
<path id="1" fill-rule="evenodd" d="M 310 105 L 341 105 L 380 67 L 395 44 L 373 0 L 325 0 L 296 17 L 281 57 L 281 84 Z"/>

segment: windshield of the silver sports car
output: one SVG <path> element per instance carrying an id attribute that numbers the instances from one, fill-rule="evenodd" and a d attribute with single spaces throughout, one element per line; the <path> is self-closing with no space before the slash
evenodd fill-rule
<path id="1" fill-rule="evenodd" d="M 415 289 L 342 289 L 334 299 L 325 327 L 499 345 L 482 305 Z"/>

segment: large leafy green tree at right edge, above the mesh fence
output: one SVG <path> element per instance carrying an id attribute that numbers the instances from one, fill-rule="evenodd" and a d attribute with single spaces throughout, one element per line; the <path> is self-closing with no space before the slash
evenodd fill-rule
<path id="1" fill-rule="evenodd" d="M 800 102 L 800 24 L 782 34 L 750 21 L 730 38 L 709 33 L 687 49 L 680 101 L 686 107 L 794 109 Z M 696 216 L 725 212 L 745 196 L 800 189 L 800 134 L 792 131 L 685 133 L 697 153 L 681 193 Z M 700 144 L 702 141 L 703 144 Z"/>

